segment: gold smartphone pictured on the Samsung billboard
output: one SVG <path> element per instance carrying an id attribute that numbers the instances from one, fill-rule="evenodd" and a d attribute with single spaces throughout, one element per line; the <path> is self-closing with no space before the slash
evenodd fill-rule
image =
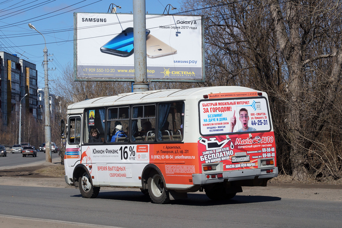
<path id="1" fill-rule="evenodd" d="M 146 54 L 149 58 L 158 58 L 176 54 L 177 50 L 149 34 L 146 37 Z"/>

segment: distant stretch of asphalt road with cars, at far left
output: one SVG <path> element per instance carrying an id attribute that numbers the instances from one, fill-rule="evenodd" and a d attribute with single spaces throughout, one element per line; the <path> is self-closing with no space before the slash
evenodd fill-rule
<path id="1" fill-rule="evenodd" d="M 58 158 L 58 153 L 52 153 L 52 159 Z M 21 153 L 12 153 L 7 151 L 7 157 L 0 157 L 0 167 L 29 164 L 38 161 L 45 161 L 45 153 L 37 152 L 37 157 L 26 156 Z"/>

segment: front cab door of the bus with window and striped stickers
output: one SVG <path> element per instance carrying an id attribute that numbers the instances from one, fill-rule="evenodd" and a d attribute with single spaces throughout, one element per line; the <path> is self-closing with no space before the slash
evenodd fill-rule
<path id="1" fill-rule="evenodd" d="M 70 116 L 68 120 L 68 140 L 65 151 L 67 166 L 75 166 L 81 160 L 81 123 L 80 115 Z"/>

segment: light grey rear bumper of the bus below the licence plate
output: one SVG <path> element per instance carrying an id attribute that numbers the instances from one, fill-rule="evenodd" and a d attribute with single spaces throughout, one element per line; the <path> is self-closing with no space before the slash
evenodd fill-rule
<path id="1" fill-rule="evenodd" d="M 272 170 L 272 173 L 267 173 L 266 170 Z M 220 172 L 222 173 L 222 172 Z M 193 174 L 194 185 L 206 185 L 212 183 L 219 183 L 223 181 L 248 180 L 248 179 L 271 179 L 278 176 L 278 167 L 267 169 L 249 169 L 249 170 L 235 170 L 225 171 L 222 173 L 223 177 L 217 177 L 219 173 L 202 173 Z M 209 176 L 209 178 L 208 178 Z M 215 177 L 214 177 L 215 176 Z"/>

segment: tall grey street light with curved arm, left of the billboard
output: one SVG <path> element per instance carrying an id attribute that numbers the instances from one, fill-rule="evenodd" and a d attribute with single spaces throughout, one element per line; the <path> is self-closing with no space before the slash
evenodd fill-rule
<path id="1" fill-rule="evenodd" d="M 35 26 L 31 23 L 28 24 L 28 27 L 39 32 Z M 43 36 L 42 33 L 39 32 L 40 35 Z M 44 112 L 45 112 L 45 161 L 52 162 L 52 154 L 51 154 L 51 125 L 50 125 L 50 101 L 49 101 L 49 75 L 48 75 L 48 49 L 46 48 L 45 37 L 45 47 L 44 47 Z"/>

